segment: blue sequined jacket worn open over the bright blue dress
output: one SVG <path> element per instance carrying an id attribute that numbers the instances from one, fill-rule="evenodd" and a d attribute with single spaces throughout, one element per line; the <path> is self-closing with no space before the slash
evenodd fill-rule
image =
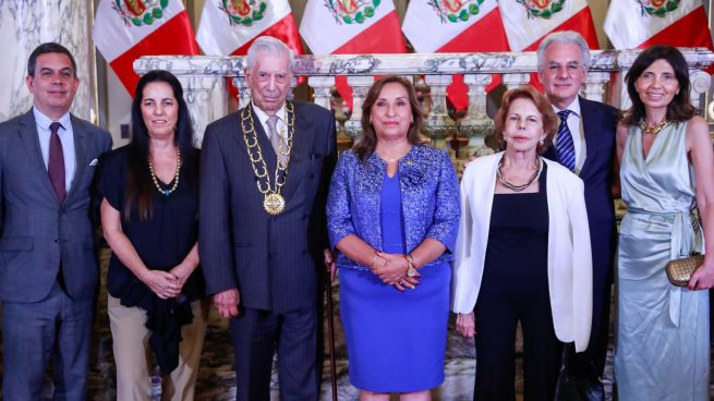
<path id="1" fill-rule="evenodd" d="M 372 154 L 363 163 L 352 151 L 339 159 L 327 199 L 327 222 L 332 247 L 354 234 L 382 250 L 380 197 L 387 165 Z M 452 262 L 459 227 L 459 182 L 449 156 L 427 146 L 412 146 L 399 160 L 399 183 L 407 251 L 435 239 L 446 252 L 428 265 Z M 427 265 L 427 266 L 428 266 Z M 341 253 L 337 266 L 368 269 Z"/>

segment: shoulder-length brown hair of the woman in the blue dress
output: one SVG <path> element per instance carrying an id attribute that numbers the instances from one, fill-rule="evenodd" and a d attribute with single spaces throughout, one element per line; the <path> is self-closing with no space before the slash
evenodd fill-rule
<path id="1" fill-rule="evenodd" d="M 400 84 L 407 89 L 409 95 L 409 106 L 412 109 L 412 117 L 414 122 L 409 126 L 409 132 L 407 133 L 407 139 L 412 145 L 417 145 L 421 143 L 419 133 L 422 130 L 422 124 L 424 123 L 424 114 L 422 113 L 422 106 L 416 100 L 416 95 L 414 94 L 414 86 L 407 78 L 403 78 L 399 75 L 385 75 L 382 78 L 377 80 L 362 104 L 362 139 L 354 145 L 354 153 L 358 158 L 362 161 L 365 161 L 370 155 L 377 148 L 377 133 L 374 132 L 374 126 L 370 123 L 370 113 L 372 112 L 372 106 L 377 101 L 382 88 L 387 84 Z"/>

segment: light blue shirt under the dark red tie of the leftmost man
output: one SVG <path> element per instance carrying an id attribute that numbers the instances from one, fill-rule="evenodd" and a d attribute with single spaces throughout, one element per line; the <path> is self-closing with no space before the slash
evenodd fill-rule
<path id="1" fill-rule="evenodd" d="M 49 168 L 49 137 L 51 135 L 49 125 L 53 122 L 53 120 L 43 114 L 39 110 L 37 110 L 36 107 L 33 107 L 33 113 L 35 114 L 35 122 L 37 123 L 39 149 L 43 153 L 45 168 Z M 70 187 L 72 187 L 74 171 L 76 170 L 76 157 L 74 154 L 74 131 L 72 131 L 72 119 L 70 118 L 70 112 L 68 111 L 57 121 L 62 124 L 62 126 L 57 132 L 57 135 L 60 137 L 60 142 L 62 143 L 62 154 L 64 155 L 64 190 L 66 190 L 69 193 Z"/>

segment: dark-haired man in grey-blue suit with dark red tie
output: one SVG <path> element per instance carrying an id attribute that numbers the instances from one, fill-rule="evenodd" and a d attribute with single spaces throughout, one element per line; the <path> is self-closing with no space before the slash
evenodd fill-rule
<path id="1" fill-rule="evenodd" d="M 37 47 L 34 106 L 0 124 L 0 299 L 5 400 L 38 400 L 52 361 L 55 399 L 85 400 L 99 270 L 90 184 L 111 136 L 70 113 L 80 81 L 70 51 Z"/>

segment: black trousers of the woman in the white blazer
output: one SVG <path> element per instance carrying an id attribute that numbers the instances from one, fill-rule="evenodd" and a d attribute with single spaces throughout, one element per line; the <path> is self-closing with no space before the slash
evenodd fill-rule
<path id="1" fill-rule="evenodd" d="M 562 344 L 555 336 L 548 290 L 481 291 L 476 316 L 476 401 L 516 400 L 516 330 L 523 330 L 525 401 L 552 401 Z"/>

